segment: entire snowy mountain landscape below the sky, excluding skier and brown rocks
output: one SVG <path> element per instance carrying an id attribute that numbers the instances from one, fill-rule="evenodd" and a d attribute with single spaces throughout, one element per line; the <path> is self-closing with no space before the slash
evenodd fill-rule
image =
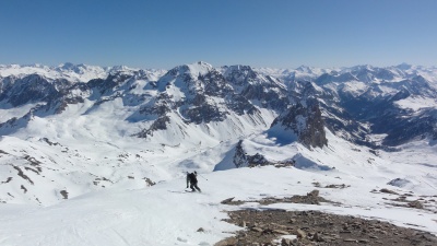
<path id="1" fill-rule="evenodd" d="M 221 200 L 304 195 L 312 183 L 344 184 L 321 189 L 342 206 L 271 207 L 437 233 L 436 74 L 1 66 L 0 245 L 213 245 L 236 230 Z M 182 192 L 187 171 L 208 178 L 204 194 Z M 422 196 L 426 210 L 398 208 L 381 188 Z"/>

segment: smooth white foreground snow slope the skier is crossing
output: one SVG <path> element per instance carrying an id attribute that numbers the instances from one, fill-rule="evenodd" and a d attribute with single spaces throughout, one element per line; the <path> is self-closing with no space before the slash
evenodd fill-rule
<path id="1" fill-rule="evenodd" d="M 257 200 L 263 197 L 305 195 L 312 181 L 344 183 L 345 189 L 322 189 L 321 196 L 344 206 L 271 204 L 256 202 L 241 209 L 320 210 L 379 219 L 400 226 L 437 233 L 437 214 L 382 203 L 385 195 L 369 190 L 379 184 L 357 181 L 338 172 L 307 172 L 259 167 L 204 173 L 199 186 L 204 192 L 185 192 L 185 178 L 158 183 L 149 188 L 109 188 L 83 195 L 49 207 L 0 207 L 1 245 L 213 245 L 239 227 L 222 221 L 223 211 L 238 207 L 220 201 L 235 197 Z M 340 175 L 341 180 L 334 176 Z M 206 180 L 206 179 L 208 180 Z M 399 214 L 402 214 L 400 216 Z M 416 225 L 416 226 L 414 226 Z M 204 232 L 197 232 L 200 227 Z"/>

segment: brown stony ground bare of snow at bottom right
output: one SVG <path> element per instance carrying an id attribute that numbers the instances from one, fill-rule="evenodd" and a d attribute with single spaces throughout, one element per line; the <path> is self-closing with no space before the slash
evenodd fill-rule
<path id="1" fill-rule="evenodd" d="M 329 202 L 314 190 L 307 196 L 258 201 L 261 204 L 294 202 L 318 204 Z M 244 201 L 224 200 L 226 204 Z M 308 246 L 308 245 L 378 245 L 378 246 L 436 246 L 437 237 L 430 233 L 406 229 L 377 220 L 328 214 L 319 211 L 239 210 L 228 213 L 226 221 L 245 230 L 215 244 L 215 246 Z M 296 235 L 296 239 L 281 239 L 282 235 Z"/>

